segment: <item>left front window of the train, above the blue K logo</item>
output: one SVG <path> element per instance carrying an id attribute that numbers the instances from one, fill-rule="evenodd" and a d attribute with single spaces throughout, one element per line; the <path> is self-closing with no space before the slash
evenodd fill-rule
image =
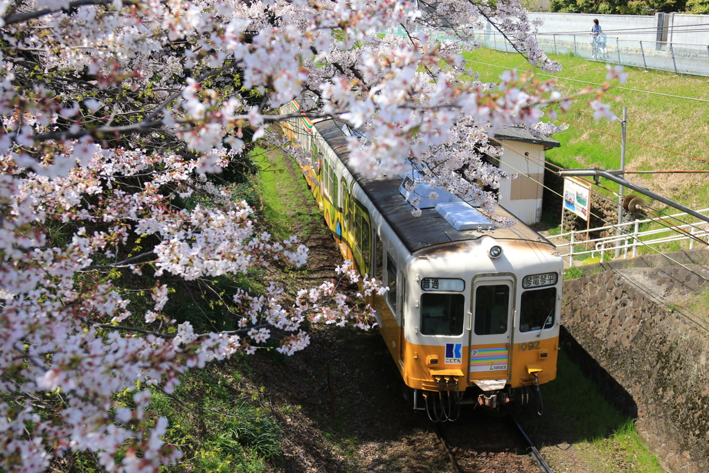
<path id="1" fill-rule="evenodd" d="M 421 295 L 423 335 L 461 335 L 465 297 L 463 294 L 427 292 Z"/>

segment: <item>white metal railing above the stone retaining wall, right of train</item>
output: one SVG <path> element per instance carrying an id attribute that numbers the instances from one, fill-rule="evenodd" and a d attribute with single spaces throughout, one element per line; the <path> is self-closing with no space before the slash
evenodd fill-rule
<path id="1" fill-rule="evenodd" d="M 699 210 L 699 213 L 707 215 L 709 208 L 704 208 Z M 628 250 L 631 250 L 631 257 L 637 256 L 637 247 L 661 245 L 663 243 L 670 243 L 674 241 L 689 240 L 689 249 L 694 247 L 694 238 L 705 239 L 709 236 L 709 224 L 705 222 L 699 223 L 684 223 L 682 225 L 676 225 L 672 228 L 653 228 L 652 230 L 640 231 L 640 226 L 643 223 L 661 223 L 666 225 L 666 222 L 662 221 L 674 221 L 674 218 L 681 218 L 686 221 L 683 217 L 688 217 L 694 220 L 691 216 L 686 213 L 675 213 L 671 216 L 666 216 L 663 218 L 647 218 L 645 220 L 636 220 L 628 223 L 623 223 L 621 225 L 606 226 L 601 228 L 590 228 L 588 230 L 571 230 L 569 233 L 561 233 L 559 235 L 549 235 L 547 240 L 554 243 L 554 240 L 561 240 L 559 243 L 554 243 L 556 245 L 559 253 L 567 260 L 570 267 L 574 266 L 574 257 L 579 255 L 590 255 L 590 257 L 596 257 L 596 254 L 601 255 L 601 262 L 603 262 L 605 254 L 607 252 L 623 252 L 623 259 L 628 257 Z M 681 228 L 686 233 L 681 233 L 676 230 L 676 228 Z M 612 235 L 603 238 L 593 238 L 589 239 L 588 234 L 591 232 L 599 231 L 616 231 L 617 235 Z M 579 238 L 579 236 L 586 234 L 586 238 Z M 693 238 L 694 237 L 694 238 Z M 592 245 L 591 249 L 577 250 L 578 245 Z M 612 256 L 609 259 L 612 259 Z"/>

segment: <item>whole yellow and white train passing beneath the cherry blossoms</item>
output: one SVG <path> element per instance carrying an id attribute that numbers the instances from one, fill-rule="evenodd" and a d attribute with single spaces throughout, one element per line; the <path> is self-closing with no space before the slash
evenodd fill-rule
<path id="1" fill-rule="evenodd" d="M 440 190 L 415 217 L 403 184 L 416 176 L 359 177 L 346 125 L 305 116 L 283 125 L 307 151 L 303 174 L 342 255 L 389 286 L 369 303 L 414 408 L 454 420 L 461 404 L 524 404 L 556 377 L 563 260 L 551 243 L 519 221 L 499 228 Z"/>

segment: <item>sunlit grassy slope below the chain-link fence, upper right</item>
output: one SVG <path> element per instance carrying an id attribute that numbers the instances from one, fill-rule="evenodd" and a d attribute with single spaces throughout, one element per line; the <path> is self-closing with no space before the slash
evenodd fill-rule
<path id="1" fill-rule="evenodd" d="M 586 81 L 602 83 L 605 80 L 605 64 L 601 62 L 589 62 L 566 55 L 550 57 L 562 64 L 563 69 L 556 77 L 558 88 L 563 92 L 577 91 L 587 85 Z M 479 72 L 480 79 L 485 82 L 499 82 L 498 77 L 504 69 L 532 69 L 541 72 L 531 67 L 520 55 L 505 52 L 481 49 L 467 54 L 467 59 L 471 60 L 469 67 Z M 645 72 L 635 67 L 626 67 L 625 72 L 628 74 L 628 80 L 622 87 L 709 100 L 707 77 L 661 71 Z M 612 89 L 610 94 L 620 99 L 611 107 L 616 116 L 622 116 L 623 106 L 627 106 L 628 139 L 709 160 L 708 103 L 624 89 Z M 605 133 L 620 135 L 619 122 L 593 120 L 593 113 L 586 102 L 576 101 L 569 113 L 562 114 L 559 118 Z M 562 133 L 557 133 L 553 138 L 559 140 L 562 146 L 549 150 L 547 159 L 557 165 L 567 168 L 620 168 L 620 138 L 574 125 Z M 709 165 L 649 146 L 627 143 L 626 169 L 709 169 Z M 630 175 L 630 180 L 691 208 L 709 207 L 709 179 L 706 174 L 659 174 L 654 177 Z M 618 188 L 605 179 L 602 181 L 609 189 Z"/>

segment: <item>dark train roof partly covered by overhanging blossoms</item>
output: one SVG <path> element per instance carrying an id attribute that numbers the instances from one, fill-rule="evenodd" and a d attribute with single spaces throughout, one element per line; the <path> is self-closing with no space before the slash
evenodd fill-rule
<path id="1" fill-rule="evenodd" d="M 347 135 L 340 128 L 342 123 L 333 119 L 318 121 L 315 127 L 318 133 L 328 141 L 337 157 L 340 157 L 350 173 L 357 179 L 364 192 L 372 200 L 374 206 L 396 232 L 409 252 L 414 253 L 435 245 L 476 240 L 484 235 L 505 240 L 545 241 L 534 230 L 517 219 L 517 223 L 510 228 L 494 226 L 493 231 L 456 230 L 433 208 L 422 208 L 421 216 L 411 214 L 411 204 L 399 192 L 402 177 L 379 177 L 365 179 L 355 173 L 350 167 L 347 151 Z M 496 206 L 497 216 L 515 218 L 502 206 Z M 491 223 L 491 225 L 494 225 Z M 538 240 L 539 239 L 539 240 Z M 548 242 L 547 242 L 548 243 Z"/>

